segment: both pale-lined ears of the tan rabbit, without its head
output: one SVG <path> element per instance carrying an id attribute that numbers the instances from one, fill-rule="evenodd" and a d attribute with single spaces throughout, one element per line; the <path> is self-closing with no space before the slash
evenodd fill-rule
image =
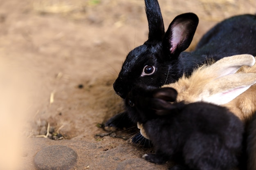
<path id="1" fill-rule="evenodd" d="M 256 73 L 236 73 L 241 66 L 254 64 L 254 56 L 243 54 L 224 57 L 202 69 L 201 72 L 205 77 L 207 75 L 215 75 L 215 77 L 204 84 L 198 99 L 218 105 L 230 102 L 256 83 Z"/>

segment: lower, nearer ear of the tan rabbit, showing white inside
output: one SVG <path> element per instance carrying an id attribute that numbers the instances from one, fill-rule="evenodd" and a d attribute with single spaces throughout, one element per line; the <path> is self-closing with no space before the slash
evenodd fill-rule
<path id="1" fill-rule="evenodd" d="M 256 73 L 222 76 L 205 85 L 199 100 L 217 105 L 230 102 L 256 83 Z"/>

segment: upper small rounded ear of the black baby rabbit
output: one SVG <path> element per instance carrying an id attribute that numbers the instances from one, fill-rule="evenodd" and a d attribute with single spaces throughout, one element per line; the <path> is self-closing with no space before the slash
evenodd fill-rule
<path id="1" fill-rule="evenodd" d="M 177 91 L 171 87 L 158 88 L 153 93 L 153 97 L 166 100 L 167 102 L 175 102 L 177 95 Z"/>

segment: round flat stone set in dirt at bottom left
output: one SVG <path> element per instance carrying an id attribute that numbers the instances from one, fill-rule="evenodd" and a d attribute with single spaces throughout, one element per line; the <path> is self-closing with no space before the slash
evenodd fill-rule
<path id="1" fill-rule="evenodd" d="M 40 150 L 35 158 L 39 170 L 70 170 L 76 164 L 76 152 L 61 145 L 48 146 Z"/>

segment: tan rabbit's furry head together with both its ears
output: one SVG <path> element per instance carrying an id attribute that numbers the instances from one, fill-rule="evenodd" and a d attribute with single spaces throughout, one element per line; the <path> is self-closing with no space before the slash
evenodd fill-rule
<path id="1" fill-rule="evenodd" d="M 183 76 L 178 82 L 162 87 L 175 88 L 179 93 L 177 101 L 224 104 L 255 83 L 254 75 L 237 75 L 236 73 L 241 66 L 253 66 L 254 64 L 255 58 L 249 54 L 224 57 L 212 65 L 199 67 L 190 77 Z"/>

